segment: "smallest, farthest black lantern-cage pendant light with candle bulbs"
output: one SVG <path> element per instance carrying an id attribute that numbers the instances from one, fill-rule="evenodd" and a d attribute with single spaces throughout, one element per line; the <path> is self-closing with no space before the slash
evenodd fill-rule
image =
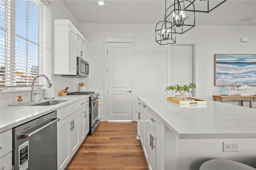
<path id="1" fill-rule="evenodd" d="M 176 43 L 176 31 L 171 20 L 166 18 L 166 0 L 165 0 L 165 15 L 164 21 L 156 24 L 156 42 L 160 45 Z"/>

